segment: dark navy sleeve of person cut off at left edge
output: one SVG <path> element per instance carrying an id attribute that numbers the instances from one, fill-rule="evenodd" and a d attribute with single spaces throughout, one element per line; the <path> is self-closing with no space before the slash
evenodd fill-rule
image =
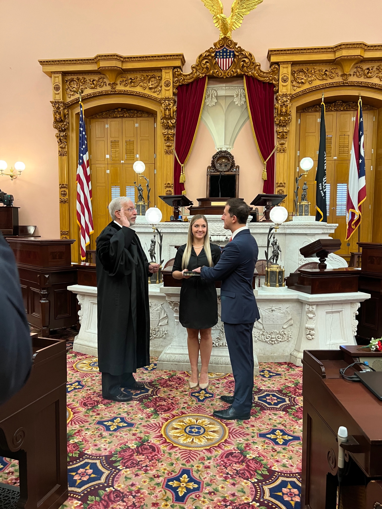
<path id="1" fill-rule="evenodd" d="M 0 233 L 0 405 L 28 380 L 32 341 L 13 251 Z"/>

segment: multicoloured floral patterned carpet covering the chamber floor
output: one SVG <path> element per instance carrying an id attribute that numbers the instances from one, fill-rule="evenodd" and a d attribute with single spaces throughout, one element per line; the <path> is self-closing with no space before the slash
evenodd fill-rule
<path id="1" fill-rule="evenodd" d="M 68 482 L 62 509 L 299 509 L 302 369 L 262 363 L 252 418 L 220 421 L 232 375 L 191 391 L 184 372 L 139 370 L 142 391 L 119 404 L 101 397 L 97 358 L 68 352 Z M 0 482 L 18 484 L 0 458 Z"/>

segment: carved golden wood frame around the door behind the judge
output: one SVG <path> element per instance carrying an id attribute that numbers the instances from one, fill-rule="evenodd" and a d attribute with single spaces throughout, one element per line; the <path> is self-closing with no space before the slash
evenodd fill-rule
<path id="1" fill-rule="evenodd" d="M 155 204 L 162 210 L 163 219 L 168 220 L 172 209 L 161 201 L 157 203 L 157 196 L 173 188 L 172 147 L 176 123 L 173 71 L 183 68 L 183 54 L 103 54 L 92 59 L 39 62 L 43 72 L 52 79 L 53 127 L 57 131 L 59 153 L 61 238 L 78 240 L 75 178 L 80 94 L 85 117 L 116 107 L 141 109 L 156 117 Z M 72 260 L 78 261 L 78 242 L 72 245 Z"/>

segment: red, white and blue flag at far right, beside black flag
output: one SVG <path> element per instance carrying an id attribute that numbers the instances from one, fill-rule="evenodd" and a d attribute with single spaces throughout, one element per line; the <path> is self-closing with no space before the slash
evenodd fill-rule
<path id="1" fill-rule="evenodd" d="M 356 125 L 351 147 L 349 184 L 347 186 L 346 202 L 346 239 L 357 230 L 361 223 L 361 204 L 366 200 L 366 168 L 364 149 L 364 120 L 362 116 L 362 101 L 358 101 Z"/>

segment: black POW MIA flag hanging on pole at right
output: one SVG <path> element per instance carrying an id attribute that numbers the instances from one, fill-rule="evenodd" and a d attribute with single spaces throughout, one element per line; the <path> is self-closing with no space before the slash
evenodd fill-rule
<path id="1" fill-rule="evenodd" d="M 321 102 L 320 144 L 316 173 L 316 221 L 326 222 L 326 129 L 325 105 Z"/>

